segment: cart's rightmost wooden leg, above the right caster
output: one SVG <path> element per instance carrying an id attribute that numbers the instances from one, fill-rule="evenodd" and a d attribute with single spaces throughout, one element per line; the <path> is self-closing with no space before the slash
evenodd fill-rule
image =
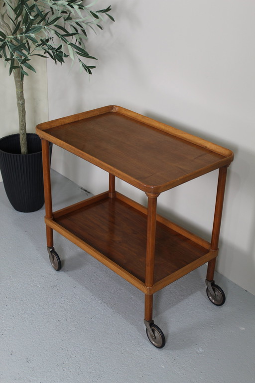
<path id="1" fill-rule="evenodd" d="M 227 167 L 223 167 L 223 168 L 219 169 L 218 188 L 217 188 L 217 195 L 216 195 L 213 231 L 212 231 L 212 239 L 211 239 L 211 249 L 212 250 L 218 250 L 218 245 L 219 245 L 227 169 L 228 169 Z M 213 280 L 215 263 L 216 263 L 216 258 L 214 258 L 208 262 L 207 276 L 206 276 L 206 279 L 208 281 Z"/>

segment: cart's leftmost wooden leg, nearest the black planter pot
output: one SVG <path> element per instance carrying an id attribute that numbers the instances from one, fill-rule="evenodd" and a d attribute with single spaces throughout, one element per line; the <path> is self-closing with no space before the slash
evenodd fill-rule
<path id="1" fill-rule="evenodd" d="M 45 217 L 52 217 L 52 198 L 50 183 L 50 154 L 49 142 L 42 139 L 42 168 L 43 168 L 43 185 L 45 199 Z M 47 247 L 53 247 L 53 230 L 46 226 Z"/>

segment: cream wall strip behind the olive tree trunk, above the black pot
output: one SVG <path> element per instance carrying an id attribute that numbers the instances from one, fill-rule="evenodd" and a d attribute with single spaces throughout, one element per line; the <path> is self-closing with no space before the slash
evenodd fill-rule
<path id="1" fill-rule="evenodd" d="M 46 60 L 33 57 L 36 74 L 30 72 L 24 78 L 24 97 L 27 132 L 35 133 L 35 126 L 48 119 L 48 92 Z M 18 133 L 18 112 L 13 76 L 9 66 L 0 59 L 0 137 Z M 0 174 L 0 181 L 2 181 Z"/>

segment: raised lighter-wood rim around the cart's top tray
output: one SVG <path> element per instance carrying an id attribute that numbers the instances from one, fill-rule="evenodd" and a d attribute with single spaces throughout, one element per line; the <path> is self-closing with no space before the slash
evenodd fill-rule
<path id="1" fill-rule="evenodd" d="M 216 154 L 221 155 L 223 158 L 219 159 L 219 161 L 216 161 L 214 164 L 211 164 L 209 166 L 206 166 L 204 168 L 201 168 L 195 172 L 192 172 L 188 175 L 184 175 L 183 177 L 180 177 L 176 180 L 169 181 L 162 185 L 148 185 L 146 183 L 143 183 L 142 181 L 138 181 L 134 179 L 133 177 L 127 175 L 126 173 L 112 167 L 111 165 L 104 163 L 103 161 L 99 161 L 98 159 L 94 158 L 93 156 L 74 148 L 72 145 L 68 143 L 64 143 L 53 136 L 50 135 L 50 133 L 47 133 L 47 130 L 53 127 L 61 128 L 62 125 L 69 124 L 71 122 L 84 120 L 89 117 L 94 117 L 98 115 L 102 115 L 105 113 L 114 112 L 119 113 L 123 116 L 126 116 L 128 118 L 131 118 L 135 121 L 138 121 L 140 123 L 143 123 L 149 127 L 152 127 L 154 129 L 163 131 L 169 135 L 172 135 L 176 138 L 182 139 L 183 141 L 187 141 L 189 143 L 195 144 L 201 148 L 204 148 L 206 150 L 209 150 L 211 152 L 214 152 Z M 177 128 L 171 127 L 169 125 L 166 125 L 164 123 L 161 123 L 159 121 L 153 120 L 149 117 L 143 116 L 141 114 L 138 114 L 136 112 L 130 111 L 126 108 L 123 108 L 121 106 L 117 105 L 108 105 L 101 108 L 93 109 L 90 111 L 77 113 L 74 115 L 70 115 L 67 117 L 62 117 L 59 119 L 51 120 L 48 122 L 44 122 L 41 124 L 38 124 L 36 126 L 36 133 L 38 136 L 42 139 L 45 139 L 47 141 L 52 142 L 53 144 L 56 144 L 57 146 L 63 147 L 67 151 L 76 154 L 77 156 L 83 158 L 84 160 L 89 161 L 90 163 L 100 167 L 101 169 L 113 174 L 114 176 L 128 182 L 129 184 L 133 185 L 134 187 L 144 191 L 144 192 L 152 192 L 152 193 L 160 193 L 164 192 L 166 190 L 172 189 L 178 185 L 181 185 L 185 182 L 188 182 L 194 178 L 197 178 L 199 176 L 202 176 L 208 172 L 211 172 L 213 170 L 219 169 L 224 166 L 229 166 L 230 163 L 234 159 L 234 154 L 231 150 L 226 149 L 224 147 L 221 147 L 217 144 L 211 143 L 210 141 L 204 140 L 202 138 L 196 137 L 194 135 L 191 135 L 189 133 L 186 133 L 182 130 L 179 130 Z"/>

